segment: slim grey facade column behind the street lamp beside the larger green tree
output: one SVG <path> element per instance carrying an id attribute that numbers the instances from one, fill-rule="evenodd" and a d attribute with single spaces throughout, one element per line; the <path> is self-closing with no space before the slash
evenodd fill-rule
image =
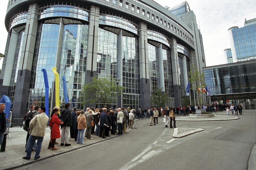
<path id="1" fill-rule="evenodd" d="M 117 78 L 120 79 L 119 86 L 123 85 L 123 34 L 122 30 L 119 31 L 117 36 Z M 123 94 L 118 93 L 117 108 L 122 107 Z"/>

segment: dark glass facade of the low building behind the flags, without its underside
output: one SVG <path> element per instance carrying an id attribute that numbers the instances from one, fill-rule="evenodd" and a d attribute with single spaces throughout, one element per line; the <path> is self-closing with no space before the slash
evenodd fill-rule
<path id="1" fill-rule="evenodd" d="M 255 70 L 255 63 L 204 69 L 205 83 L 211 95 L 255 92 Z"/>

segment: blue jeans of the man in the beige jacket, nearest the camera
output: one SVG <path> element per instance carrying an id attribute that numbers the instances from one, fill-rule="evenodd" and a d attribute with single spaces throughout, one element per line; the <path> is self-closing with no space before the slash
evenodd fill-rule
<path id="1" fill-rule="evenodd" d="M 28 145 L 28 151 L 27 151 L 26 157 L 27 158 L 31 157 L 32 148 L 33 148 L 33 145 L 34 145 L 34 143 L 36 141 L 36 138 L 37 138 L 36 154 L 35 154 L 35 157 L 34 157 L 34 159 L 37 159 L 39 157 L 39 154 L 40 154 L 40 151 L 41 151 L 42 142 L 43 142 L 44 137 L 37 137 L 37 136 L 30 135 L 29 138 L 30 138 L 30 140 L 29 140 L 29 144 L 27 144 Z"/>

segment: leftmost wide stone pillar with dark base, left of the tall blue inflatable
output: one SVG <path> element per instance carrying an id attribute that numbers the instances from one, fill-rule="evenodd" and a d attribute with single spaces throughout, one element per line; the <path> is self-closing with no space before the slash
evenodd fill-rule
<path id="1" fill-rule="evenodd" d="M 17 76 L 18 85 L 16 85 L 13 100 L 12 118 L 23 118 L 24 114 L 26 113 L 26 104 L 31 78 L 31 65 L 33 61 L 38 27 L 37 13 L 38 5 L 29 5 L 28 18 L 24 32 L 20 65 Z"/>

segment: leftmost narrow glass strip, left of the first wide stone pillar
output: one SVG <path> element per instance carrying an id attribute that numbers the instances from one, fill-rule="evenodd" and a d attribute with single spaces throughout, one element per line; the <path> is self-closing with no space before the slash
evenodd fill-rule
<path id="1" fill-rule="evenodd" d="M 25 32 L 25 29 L 21 30 L 18 33 L 17 45 L 16 45 L 16 49 L 15 49 L 15 54 L 14 54 L 12 75 L 11 75 L 11 81 L 10 81 L 10 86 L 9 86 L 9 94 L 8 94 L 12 103 L 13 103 L 13 98 L 14 98 L 14 93 L 15 93 L 15 86 L 16 86 L 16 81 L 17 81 L 19 64 L 20 64 L 20 55 L 21 55 L 23 38 L 24 38 L 24 32 Z"/>

